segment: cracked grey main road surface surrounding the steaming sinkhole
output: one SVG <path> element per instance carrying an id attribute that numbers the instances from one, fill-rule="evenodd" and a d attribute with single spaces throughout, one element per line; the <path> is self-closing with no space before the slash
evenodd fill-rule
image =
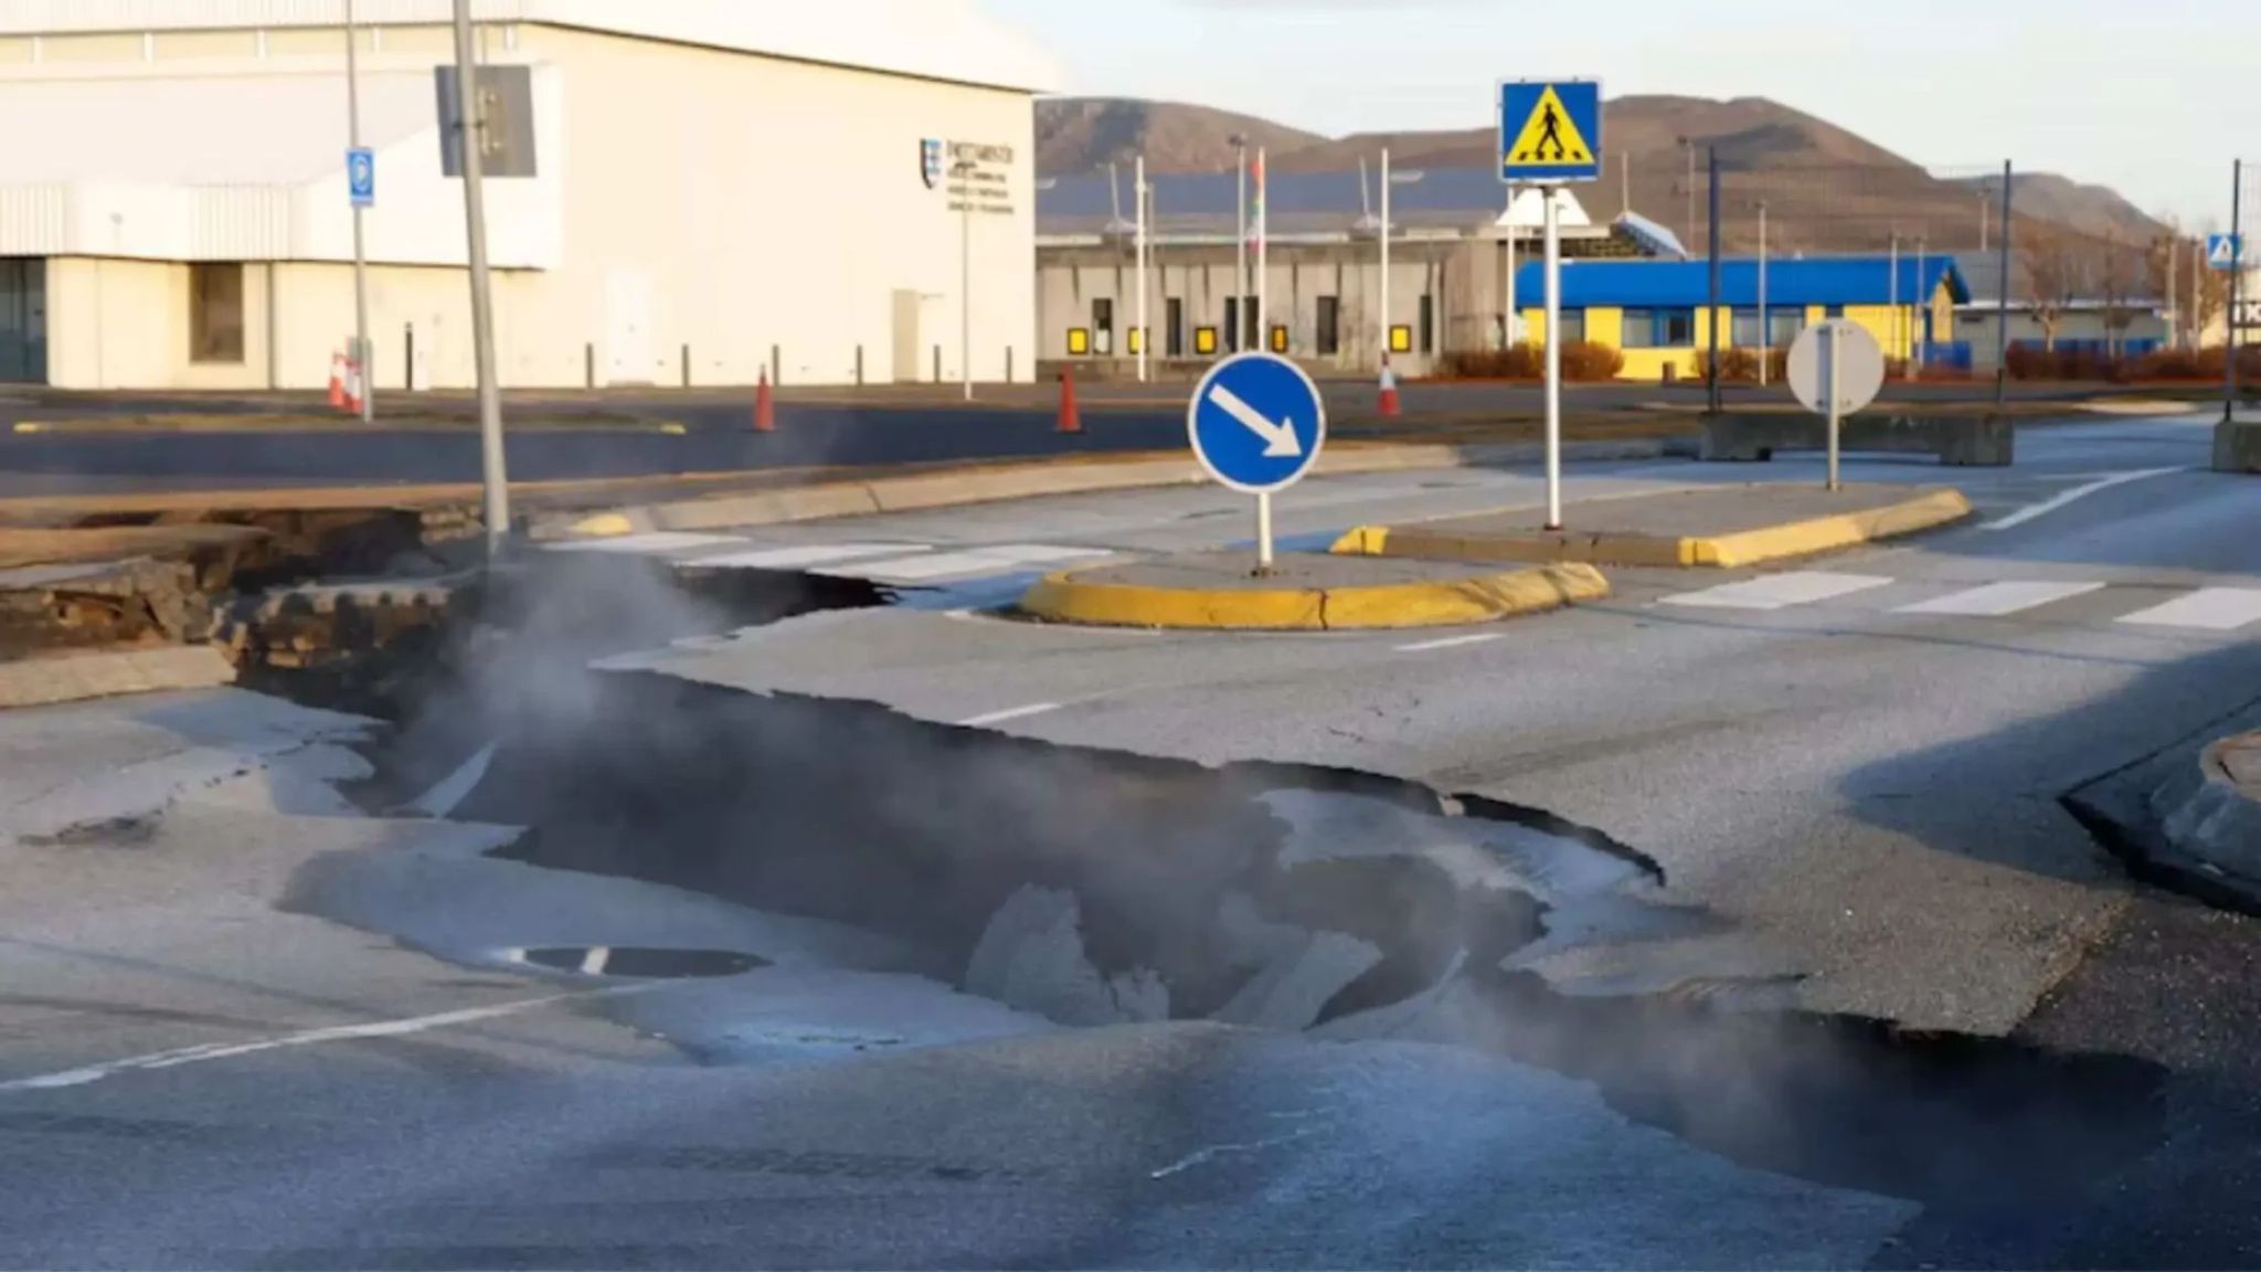
<path id="1" fill-rule="evenodd" d="M 1002 835 L 997 799 L 1065 815 L 1033 760 L 936 790 L 904 767 L 918 751 L 877 745 L 950 727 L 1121 772 L 1101 824 L 1201 772 L 1151 765 L 1298 763 L 1544 810 L 1662 876 L 1637 892 L 1662 919 L 1630 921 L 1580 883 L 1599 858 L 1562 856 L 1535 887 L 1576 939 L 1524 951 L 1533 980 L 1452 973 L 1336 1037 L 1063 1028 L 902 971 L 868 926 L 486 858 L 516 831 L 346 808 L 362 729 L 274 699 L 5 715 L 0 1134 L 29 1152 L 0 1157 L 0 1263 L 2256 1265 L 2261 930 L 2130 883 L 2060 806 L 2261 697 L 2241 622 L 2261 487 L 2204 455 L 2180 421 L 2028 430 L 2017 469 L 1947 473 L 1978 507 L 1951 530 L 1773 570 L 1614 570 L 1603 604 L 1395 636 L 986 613 L 1067 564 L 1239 545 L 1248 500 L 1214 489 L 599 552 L 902 588 L 610 663 L 796 695 L 809 720 L 902 713 L 868 745 L 778 724 L 780 756 L 843 767 L 748 790 L 918 792 L 934 835 Z M 1571 498 L 1752 478 L 1818 473 L 1578 466 Z M 1535 498 L 1528 471 L 1332 478 L 1277 518 L 1316 548 Z M 608 600 L 665 604 L 574 604 Z M 561 747 L 642 749 L 536 645 L 511 656 Z M 665 803 L 577 835 L 649 856 Z M 1345 853 L 1402 837 L 1289 824 Z M 726 837 L 798 833 L 748 817 Z M 771 966 L 692 985 L 502 957 L 572 942 Z M 1485 1034 L 1515 996 L 1551 1003 L 1544 1037 Z M 1732 1012 L 1617 1016 L 1684 998 Z M 1868 1039 L 1861 1064 L 1800 1059 L 1813 1030 Z M 1660 1093 L 1682 1068 L 1698 1111 Z"/>

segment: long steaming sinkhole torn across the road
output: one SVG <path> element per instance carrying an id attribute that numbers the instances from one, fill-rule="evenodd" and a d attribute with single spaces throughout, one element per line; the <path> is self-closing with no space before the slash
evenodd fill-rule
<path id="1" fill-rule="evenodd" d="M 457 659 L 389 681 L 398 729 L 366 797 L 400 803 L 484 751 L 448 815 L 520 826 L 516 862 L 880 932 L 911 951 L 895 971 L 1063 1025 L 1481 1048 L 1734 1161 L 1938 1209 L 2071 1204 L 2164 1138 L 2146 1062 L 1800 1012 L 1782 985 L 1700 969 L 1610 994 L 1556 980 L 1565 951 L 1671 948 L 1718 919 L 1537 808 L 588 668 L 839 600 L 796 586 L 717 616 L 610 564 L 545 575 Z"/>

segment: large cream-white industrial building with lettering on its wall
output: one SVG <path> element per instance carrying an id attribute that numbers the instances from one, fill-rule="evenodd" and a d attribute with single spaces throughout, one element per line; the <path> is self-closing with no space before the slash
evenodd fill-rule
<path id="1" fill-rule="evenodd" d="M 355 326 L 346 2 L 0 0 L 0 380 L 326 385 Z M 531 77 L 536 174 L 486 183 L 506 387 L 954 380 L 961 335 L 977 378 L 1031 378 L 1056 70 L 968 0 L 473 11 Z M 375 385 L 461 387 L 450 2 L 353 16 Z"/>

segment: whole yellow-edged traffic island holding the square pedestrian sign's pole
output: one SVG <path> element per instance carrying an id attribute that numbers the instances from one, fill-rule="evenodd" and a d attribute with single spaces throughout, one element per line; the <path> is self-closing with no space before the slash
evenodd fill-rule
<path id="1" fill-rule="evenodd" d="M 1947 487 L 1750 484 L 1574 502 L 1567 530 L 1544 509 L 1508 509 L 1415 525 L 1361 525 L 1334 543 L 1345 557 L 1427 561 L 1592 561 L 1603 566 L 1757 566 L 1877 539 L 1915 534 L 1969 516 Z"/>

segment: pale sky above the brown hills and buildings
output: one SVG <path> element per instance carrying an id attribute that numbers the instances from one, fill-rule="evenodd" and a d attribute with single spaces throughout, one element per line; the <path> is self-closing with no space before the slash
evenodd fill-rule
<path id="1" fill-rule="evenodd" d="M 1499 79 L 1773 97 L 1931 167 L 2010 158 L 2150 213 L 2261 192 L 2261 0 L 979 0 L 1069 93 L 1323 131 L 1490 124 Z M 1605 124 L 1608 127 L 1608 124 Z"/>

